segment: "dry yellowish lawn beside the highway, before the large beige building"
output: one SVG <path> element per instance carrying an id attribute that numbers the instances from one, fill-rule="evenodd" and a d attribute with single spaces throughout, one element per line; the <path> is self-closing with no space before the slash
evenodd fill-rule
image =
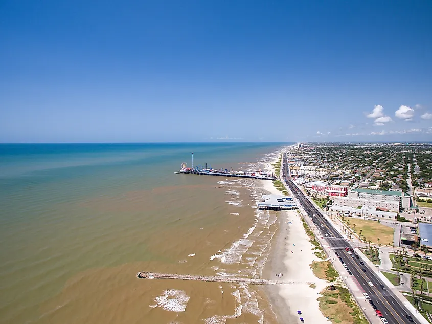
<path id="1" fill-rule="evenodd" d="M 377 243 L 379 237 L 380 244 L 392 245 L 394 229 L 376 221 L 361 220 L 356 218 L 345 218 L 345 222 L 349 221 L 349 227 L 353 227 L 355 224 L 355 232 L 360 233 L 366 237 L 366 241 L 371 240 L 372 243 Z"/>

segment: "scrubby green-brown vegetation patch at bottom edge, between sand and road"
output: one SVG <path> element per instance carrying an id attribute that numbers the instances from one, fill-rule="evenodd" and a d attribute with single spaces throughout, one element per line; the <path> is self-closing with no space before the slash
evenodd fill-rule
<path id="1" fill-rule="evenodd" d="M 334 286 L 334 290 L 330 290 L 330 287 L 324 289 L 321 292 L 323 296 L 318 298 L 320 311 L 324 316 L 337 324 L 368 323 L 348 289 Z"/>

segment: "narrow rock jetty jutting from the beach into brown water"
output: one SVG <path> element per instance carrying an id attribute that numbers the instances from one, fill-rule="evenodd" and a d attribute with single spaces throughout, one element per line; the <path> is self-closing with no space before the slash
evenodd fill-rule
<path id="1" fill-rule="evenodd" d="M 243 283 L 248 285 L 299 285 L 309 284 L 307 282 L 299 281 L 281 281 L 281 280 L 268 280 L 268 279 L 256 279 L 256 278 L 232 278 L 223 276 L 201 276 L 191 274 L 167 274 L 167 273 L 156 273 L 156 272 L 138 272 L 137 278 L 140 279 L 179 279 L 179 280 L 196 280 L 196 281 L 208 281 L 208 282 L 220 282 L 220 283 Z"/>

